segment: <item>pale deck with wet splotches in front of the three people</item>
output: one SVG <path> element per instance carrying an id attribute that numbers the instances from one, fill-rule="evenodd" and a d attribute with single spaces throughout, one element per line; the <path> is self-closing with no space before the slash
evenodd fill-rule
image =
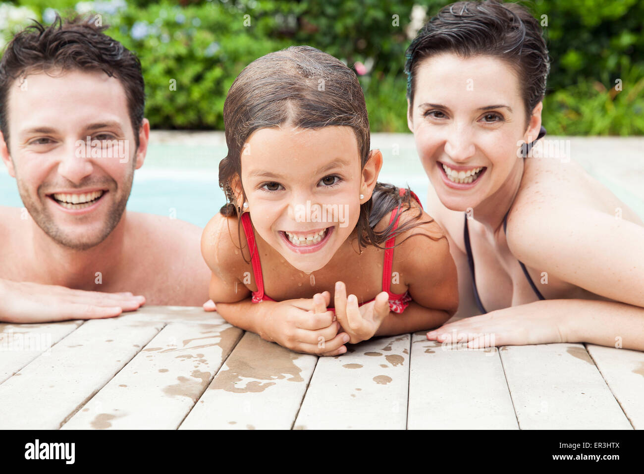
<path id="1" fill-rule="evenodd" d="M 298 354 L 190 307 L 0 324 L 0 429 L 644 427 L 644 352 L 377 337 Z"/>

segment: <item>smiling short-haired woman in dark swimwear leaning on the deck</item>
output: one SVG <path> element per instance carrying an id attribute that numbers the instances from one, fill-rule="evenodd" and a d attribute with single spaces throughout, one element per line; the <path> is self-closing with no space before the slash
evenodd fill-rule
<path id="1" fill-rule="evenodd" d="M 457 318 L 491 311 L 428 337 L 644 350 L 641 219 L 569 156 L 522 153 L 545 135 L 548 61 L 536 19 L 495 1 L 446 6 L 408 48 L 408 124 L 459 269 Z"/>

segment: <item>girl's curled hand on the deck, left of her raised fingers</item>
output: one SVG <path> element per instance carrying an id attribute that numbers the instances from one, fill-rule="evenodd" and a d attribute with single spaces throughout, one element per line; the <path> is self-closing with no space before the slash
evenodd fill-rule
<path id="1" fill-rule="evenodd" d="M 280 301 L 263 321 L 267 339 L 296 352 L 316 355 L 339 355 L 346 352 L 349 337 L 338 334 L 340 324 L 327 311 L 331 294 L 316 293 L 313 298 Z M 258 303 L 263 304 L 263 303 Z"/>

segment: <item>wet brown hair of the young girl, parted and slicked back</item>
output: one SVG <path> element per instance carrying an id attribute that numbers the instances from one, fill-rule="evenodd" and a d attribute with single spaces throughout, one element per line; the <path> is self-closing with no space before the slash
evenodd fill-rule
<path id="1" fill-rule="evenodd" d="M 232 184 L 237 181 L 241 186 L 242 149 L 258 129 L 282 125 L 307 129 L 348 126 L 357 138 L 361 169 L 369 158 L 369 122 L 357 76 L 343 62 L 310 46 L 290 46 L 246 66 L 228 91 L 223 120 L 228 155 L 219 164 L 219 185 L 227 201 L 220 213 L 226 217 L 241 217 Z M 242 187 L 242 202 L 245 200 Z M 393 223 L 383 231 L 374 231 L 384 216 L 403 206 L 403 212 L 411 209 L 410 192 L 400 196 L 397 187 L 377 183 L 370 200 L 360 206 L 356 225 L 359 249 L 366 245 L 382 249 L 380 244 L 392 236 L 432 222 L 417 222 L 422 216 L 419 209 L 417 215 L 393 232 Z M 240 224 L 238 219 L 239 236 Z"/>

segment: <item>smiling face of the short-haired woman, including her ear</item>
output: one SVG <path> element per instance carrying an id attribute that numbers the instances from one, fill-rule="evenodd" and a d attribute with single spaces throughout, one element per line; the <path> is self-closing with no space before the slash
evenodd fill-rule
<path id="1" fill-rule="evenodd" d="M 475 208 L 520 182 L 520 140 L 541 126 L 541 104 L 526 129 L 515 71 L 495 57 L 443 53 L 424 59 L 416 73 L 408 125 L 440 201 L 453 211 Z M 516 186 L 514 187 L 516 190 Z"/>

